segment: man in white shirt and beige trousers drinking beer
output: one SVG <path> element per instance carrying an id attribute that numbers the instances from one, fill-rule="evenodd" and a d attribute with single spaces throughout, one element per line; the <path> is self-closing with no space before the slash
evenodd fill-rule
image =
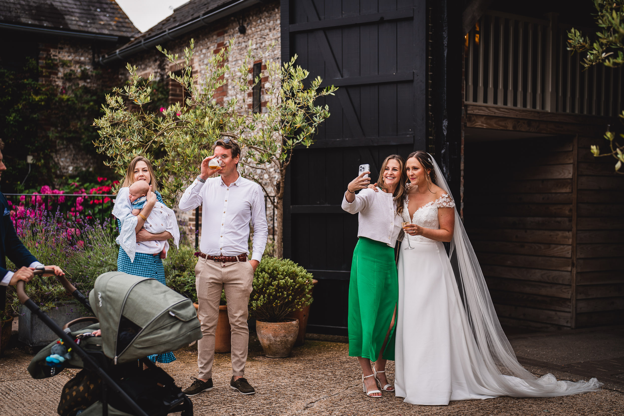
<path id="1" fill-rule="evenodd" d="M 202 161 L 200 175 L 180 199 L 182 211 L 203 205 L 202 239 L 195 266 L 203 338 L 197 342 L 199 376 L 191 377 L 195 381 L 184 394 L 194 396 L 213 388 L 215 330 L 222 289 L 232 326 L 230 386 L 241 394 L 254 394 L 255 389 L 243 377 L 249 340 L 247 304 L 253 272 L 260 264 L 268 236 L 265 200 L 260 185 L 236 171 L 240 158 L 236 142 L 230 138 L 217 140 L 213 151 L 213 156 Z M 213 159 L 218 163 L 210 163 Z M 253 225 L 253 255 L 248 259 L 250 223 Z"/>

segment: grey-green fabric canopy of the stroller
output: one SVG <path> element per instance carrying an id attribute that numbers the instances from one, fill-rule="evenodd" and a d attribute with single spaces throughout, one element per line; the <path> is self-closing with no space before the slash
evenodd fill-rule
<path id="1" fill-rule="evenodd" d="M 104 354 L 115 364 L 174 351 L 202 337 L 193 302 L 155 279 L 120 271 L 101 274 L 89 302 L 100 320 Z M 117 351 L 122 317 L 139 330 Z"/>

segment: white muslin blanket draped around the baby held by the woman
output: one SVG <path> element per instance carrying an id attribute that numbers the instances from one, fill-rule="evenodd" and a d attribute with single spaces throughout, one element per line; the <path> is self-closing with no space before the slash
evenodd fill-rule
<path id="1" fill-rule="evenodd" d="M 137 243 L 137 235 L 134 229 L 137 226 L 137 216 L 132 215 L 132 202 L 130 202 L 129 188 L 121 188 L 115 198 L 115 206 L 112 214 L 117 217 L 121 225 L 121 231 L 115 243 L 119 244 L 128 254 L 130 262 L 134 263 L 134 256 L 136 253 L 159 253 L 163 249 L 165 253 L 169 249 L 169 243 L 167 241 L 142 241 Z M 173 244 L 178 246 L 180 242 L 180 228 L 178 228 L 178 221 L 175 218 L 175 213 L 171 208 L 168 208 L 161 202 L 156 202 L 152 212 L 145 221 L 145 230 L 152 234 L 163 233 L 169 231 L 173 236 Z"/>

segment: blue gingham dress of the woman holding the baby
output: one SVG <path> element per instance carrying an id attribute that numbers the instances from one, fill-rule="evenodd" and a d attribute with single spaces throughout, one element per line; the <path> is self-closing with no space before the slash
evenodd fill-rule
<path id="1" fill-rule="evenodd" d="M 160 192 L 155 191 L 158 202 L 164 203 Z M 117 231 L 120 231 L 120 224 L 117 221 Z M 130 262 L 128 254 L 124 249 L 119 247 L 119 256 L 117 256 L 117 271 L 122 271 L 128 274 L 134 274 L 134 276 L 141 276 L 143 278 L 156 279 L 162 284 L 165 283 L 165 268 L 162 266 L 162 259 L 160 254 L 147 254 L 136 253 L 134 257 L 134 263 Z M 164 354 L 154 354 L 148 356 L 152 362 L 162 362 L 167 364 L 168 362 L 175 361 L 173 352 L 165 352 Z"/>

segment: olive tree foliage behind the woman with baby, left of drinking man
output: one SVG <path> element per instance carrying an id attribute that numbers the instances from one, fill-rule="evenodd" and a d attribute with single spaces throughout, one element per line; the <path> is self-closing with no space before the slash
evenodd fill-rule
<path id="1" fill-rule="evenodd" d="M 137 67 L 127 65 L 130 79 L 123 88 L 116 87 L 106 95 L 104 115 L 96 119 L 100 137 L 94 141 L 99 153 L 107 156 L 105 162 L 115 172 L 124 175 L 130 161 L 136 156 L 149 158 L 157 172 L 160 191 L 169 206 L 176 204 L 180 191 L 192 181 L 203 158 L 223 132 L 236 129 L 235 102 L 217 103 L 215 89 L 225 84 L 223 75 L 230 70 L 227 64 L 232 47 L 222 49 L 210 57 L 206 75 L 193 75 L 193 40 L 184 49 L 181 75 L 168 76 L 182 84 L 184 102 L 168 108 L 150 110 L 154 74 L 145 82 L 137 75 Z M 169 62 L 178 62 L 178 55 L 158 47 Z"/>

